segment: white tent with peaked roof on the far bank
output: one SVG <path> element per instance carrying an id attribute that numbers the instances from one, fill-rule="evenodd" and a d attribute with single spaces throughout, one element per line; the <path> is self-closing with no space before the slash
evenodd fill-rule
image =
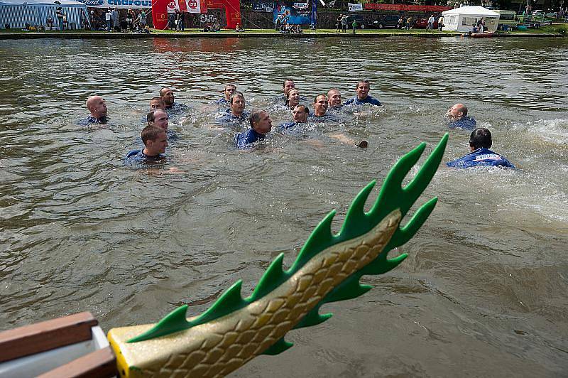
<path id="1" fill-rule="evenodd" d="M 484 18 L 486 30 L 497 30 L 499 13 L 490 11 L 483 6 L 461 6 L 460 8 L 443 11 L 444 28 L 447 31 L 471 31 L 477 21 Z"/>

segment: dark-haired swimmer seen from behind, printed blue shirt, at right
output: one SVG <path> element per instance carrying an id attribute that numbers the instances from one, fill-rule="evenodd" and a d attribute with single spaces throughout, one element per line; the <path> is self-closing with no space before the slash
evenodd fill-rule
<path id="1" fill-rule="evenodd" d="M 503 168 L 515 168 L 506 158 L 491 151 L 491 131 L 478 128 L 471 131 L 469 136 L 469 148 L 471 153 L 459 159 L 449 161 L 446 166 L 454 168 L 471 168 L 483 166 L 498 166 Z"/>

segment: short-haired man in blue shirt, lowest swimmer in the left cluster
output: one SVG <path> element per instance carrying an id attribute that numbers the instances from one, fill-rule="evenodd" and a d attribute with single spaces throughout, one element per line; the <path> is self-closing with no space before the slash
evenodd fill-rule
<path id="1" fill-rule="evenodd" d="M 165 148 L 168 147 L 168 136 L 165 131 L 156 126 L 146 126 L 142 130 L 141 137 L 144 148 L 129 151 L 124 157 L 124 163 L 136 166 L 165 161 Z"/>

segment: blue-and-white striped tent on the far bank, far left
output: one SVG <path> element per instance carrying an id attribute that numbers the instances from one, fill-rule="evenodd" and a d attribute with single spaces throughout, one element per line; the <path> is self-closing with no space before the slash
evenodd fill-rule
<path id="1" fill-rule="evenodd" d="M 59 4 L 58 4 L 59 3 Z M 32 26 L 48 28 L 48 19 L 53 21 L 53 29 L 59 29 L 55 11 L 61 8 L 70 27 L 81 28 L 83 20 L 89 14 L 87 6 L 75 0 L 0 0 L 0 28 L 25 28 L 26 23 Z"/>

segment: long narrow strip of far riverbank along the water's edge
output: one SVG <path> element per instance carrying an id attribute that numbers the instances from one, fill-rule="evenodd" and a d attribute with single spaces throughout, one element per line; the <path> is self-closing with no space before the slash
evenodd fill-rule
<path id="1" fill-rule="evenodd" d="M 36 38 L 62 38 L 62 39 L 138 39 L 138 38 L 388 38 L 388 37 L 418 37 L 418 38 L 444 38 L 461 37 L 464 33 L 451 31 L 430 31 L 415 29 L 410 31 L 391 30 L 357 30 L 354 34 L 338 33 L 334 29 L 306 30 L 302 34 L 282 34 L 272 29 L 248 29 L 244 32 L 218 31 L 204 32 L 200 29 L 190 29 L 182 32 L 152 31 L 143 33 L 107 33 L 104 31 L 0 31 L 0 39 L 36 39 Z M 527 31 L 496 32 L 495 37 L 521 37 L 521 38 L 550 38 L 563 37 L 555 26 L 547 26 Z"/>

